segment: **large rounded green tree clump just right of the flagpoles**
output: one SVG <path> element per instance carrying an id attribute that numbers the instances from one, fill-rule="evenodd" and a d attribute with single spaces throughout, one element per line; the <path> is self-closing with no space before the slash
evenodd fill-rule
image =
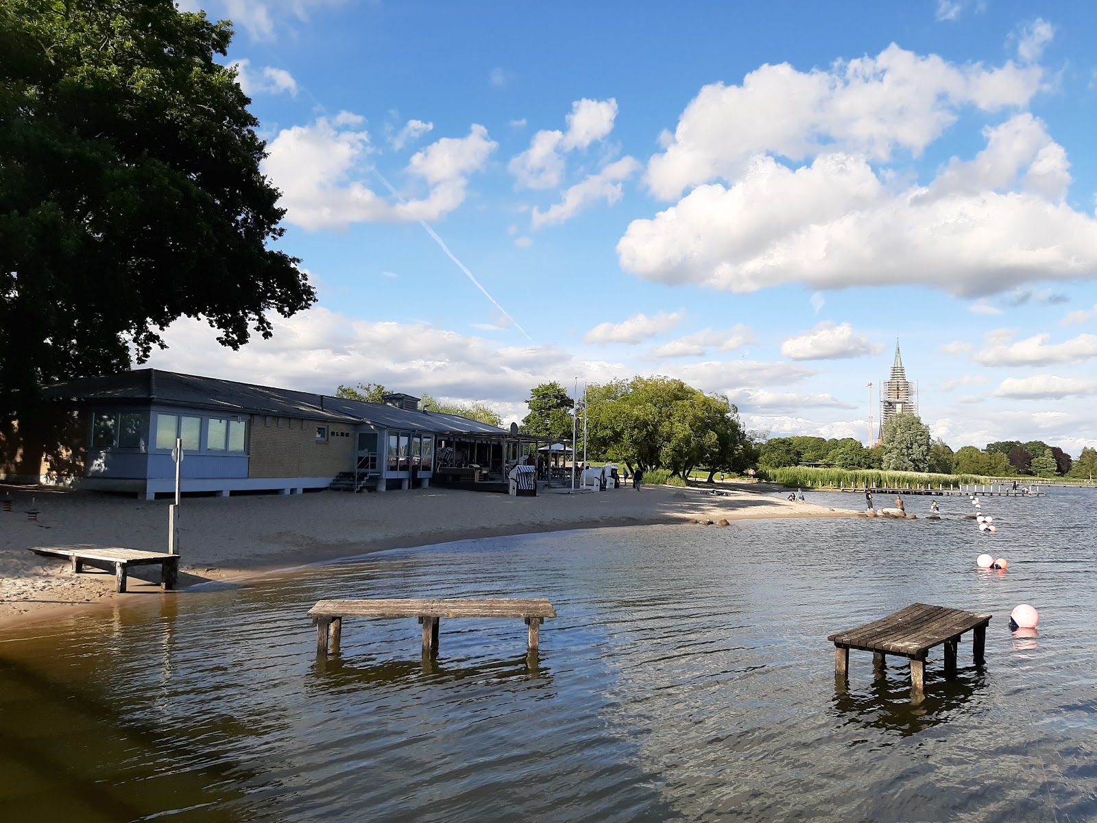
<path id="1" fill-rule="evenodd" d="M 587 448 L 631 470 L 698 467 L 743 471 L 751 456 L 738 412 L 727 398 L 680 380 L 633 377 L 587 390 Z M 711 474 L 710 474 L 711 476 Z"/>

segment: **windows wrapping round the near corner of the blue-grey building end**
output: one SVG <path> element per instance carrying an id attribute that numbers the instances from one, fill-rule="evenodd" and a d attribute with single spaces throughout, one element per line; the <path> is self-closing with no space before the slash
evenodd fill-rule
<path id="1" fill-rule="evenodd" d="M 202 449 L 203 418 L 190 415 L 156 415 L 157 449 L 174 449 L 182 441 L 183 451 Z M 214 452 L 247 451 L 248 425 L 244 420 L 224 417 L 205 418 L 205 450 Z M 148 447 L 148 415 L 142 412 L 108 412 L 97 414 L 91 425 L 92 449 L 138 449 Z"/>

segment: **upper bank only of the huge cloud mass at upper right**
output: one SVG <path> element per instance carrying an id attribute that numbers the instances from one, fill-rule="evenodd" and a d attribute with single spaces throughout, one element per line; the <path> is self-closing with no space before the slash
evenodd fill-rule
<path id="1" fill-rule="evenodd" d="M 969 106 L 993 112 L 1025 105 L 1042 69 L 957 66 L 892 44 L 875 57 L 829 70 L 762 66 L 742 86 L 701 89 L 679 119 L 672 142 L 647 169 L 652 191 L 670 200 L 682 189 L 735 180 L 759 153 L 801 160 L 828 146 L 889 161 L 895 148 L 918 155 Z"/>

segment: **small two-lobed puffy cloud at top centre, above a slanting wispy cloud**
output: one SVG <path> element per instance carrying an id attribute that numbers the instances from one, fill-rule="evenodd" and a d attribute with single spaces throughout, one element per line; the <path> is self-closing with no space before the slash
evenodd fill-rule
<path id="1" fill-rule="evenodd" d="M 567 131 L 543 129 L 533 135 L 530 147 L 511 158 L 507 169 L 516 189 L 554 189 L 564 176 L 564 154 L 585 149 L 613 131 L 617 100 L 576 100 L 567 115 Z M 632 172 L 630 172 L 632 173 Z"/>

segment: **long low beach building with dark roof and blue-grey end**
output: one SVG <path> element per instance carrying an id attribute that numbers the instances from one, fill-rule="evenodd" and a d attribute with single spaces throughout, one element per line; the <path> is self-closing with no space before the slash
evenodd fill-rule
<path id="1" fill-rule="evenodd" d="M 365 403 L 289 388 L 138 369 L 43 390 L 43 413 L 0 431 L 0 480 L 131 492 L 349 488 L 505 480 L 534 442 L 419 398 Z"/>

